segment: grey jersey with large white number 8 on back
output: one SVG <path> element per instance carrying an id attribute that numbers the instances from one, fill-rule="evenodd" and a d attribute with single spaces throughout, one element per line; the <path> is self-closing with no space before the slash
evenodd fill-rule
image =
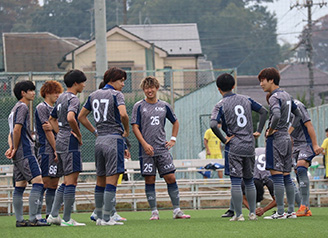
<path id="1" fill-rule="evenodd" d="M 224 95 L 215 105 L 211 120 L 221 122 L 227 136 L 234 135 L 225 151 L 239 156 L 255 155 L 252 110 L 258 112 L 261 108 L 251 98 L 233 93 Z"/>

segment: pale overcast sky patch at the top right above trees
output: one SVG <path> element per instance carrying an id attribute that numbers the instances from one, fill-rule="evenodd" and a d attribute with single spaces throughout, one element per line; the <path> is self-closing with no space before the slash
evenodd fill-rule
<path id="1" fill-rule="evenodd" d="M 290 9 L 291 5 L 296 3 L 302 4 L 305 0 L 274 0 L 273 3 L 265 4 L 268 6 L 270 12 L 275 12 L 278 19 L 277 32 L 279 43 L 288 41 L 289 43 L 297 43 L 298 36 L 306 25 L 307 20 L 307 8 L 293 8 Z M 322 0 L 314 0 L 313 3 L 328 2 Z M 312 7 L 312 20 L 328 15 L 328 5 L 320 8 L 319 6 Z"/>

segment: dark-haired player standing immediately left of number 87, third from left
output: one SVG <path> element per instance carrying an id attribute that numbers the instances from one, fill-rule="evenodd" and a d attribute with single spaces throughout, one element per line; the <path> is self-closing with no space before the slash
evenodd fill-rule
<path id="1" fill-rule="evenodd" d="M 77 179 L 82 171 L 80 152 L 82 135 L 77 121 L 80 101 L 76 95 L 83 91 L 86 80 L 85 74 L 77 69 L 70 70 L 64 75 L 67 90 L 57 99 L 49 118 L 52 128 L 57 133 L 57 173 L 64 175 L 64 182 L 56 191 L 55 200 L 47 221 L 61 226 L 85 226 L 84 223 L 73 220 L 71 213 L 75 202 Z M 63 219 L 59 216 L 62 202 L 64 202 Z"/>

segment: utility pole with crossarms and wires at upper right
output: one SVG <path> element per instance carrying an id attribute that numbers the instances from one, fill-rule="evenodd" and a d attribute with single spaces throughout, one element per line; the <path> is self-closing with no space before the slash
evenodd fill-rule
<path id="1" fill-rule="evenodd" d="M 312 45 L 312 7 L 313 6 L 319 6 L 320 8 L 327 5 L 326 2 L 321 1 L 320 3 L 313 3 L 312 0 L 305 0 L 302 4 L 299 3 L 299 1 L 296 1 L 296 4 L 291 5 L 290 8 L 293 9 L 294 7 L 299 8 L 307 8 L 308 12 L 308 19 L 307 19 L 307 30 L 305 34 L 305 49 L 308 56 L 308 69 L 309 69 L 309 89 L 310 89 L 310 105 L 315 105 L 315 99 L 314 99 L 314 73 L 313 73 L 313 45 Z"/>

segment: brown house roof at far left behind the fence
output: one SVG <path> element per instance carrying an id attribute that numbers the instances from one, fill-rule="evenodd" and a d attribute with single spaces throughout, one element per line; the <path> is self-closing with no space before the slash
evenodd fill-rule
<path id="1" fill-rule="evenodd" d="M 7 72 L 60 71 L 58 61 L 82 43 L 49 32 L 3 33 L 2 37 Z"/>

